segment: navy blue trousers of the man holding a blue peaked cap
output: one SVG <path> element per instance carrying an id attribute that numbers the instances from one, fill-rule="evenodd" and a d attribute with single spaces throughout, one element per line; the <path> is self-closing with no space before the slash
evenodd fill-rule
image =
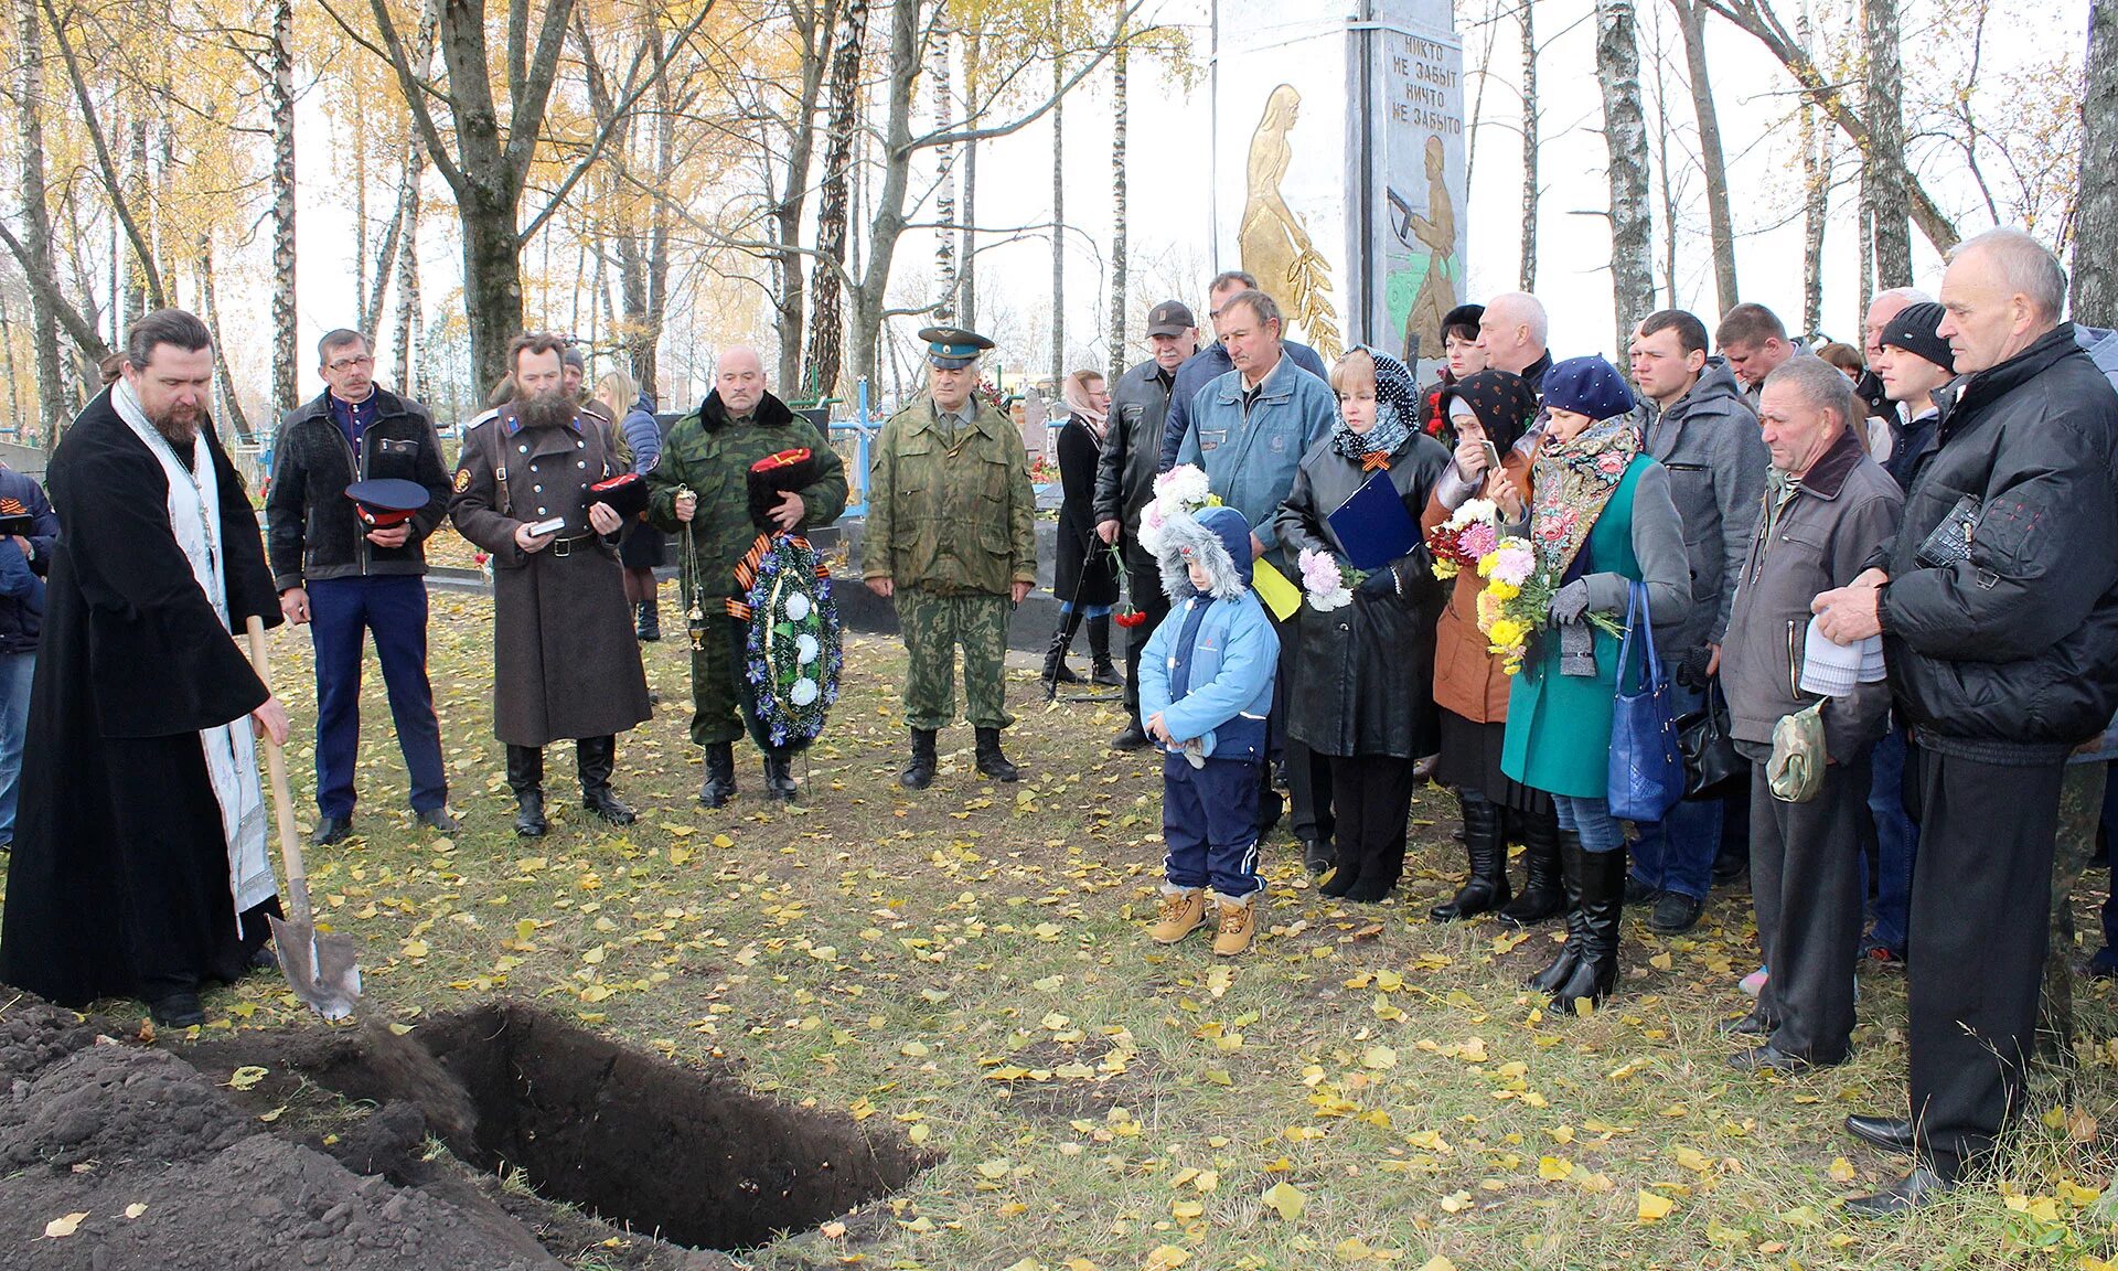
<path id="1" fill-rule="evenodd" d="M 354 816 L 354 758 L 360 754 L 362 633 L 375 633 L 390 718 L 411 777 L 413 811 L 449 801 L 441 769 L 441 722 L 426 678 L 426 578 L 383 574 L 318 578 L 309 591 L 309 640 L 316 642 L 316 809 Z"/>

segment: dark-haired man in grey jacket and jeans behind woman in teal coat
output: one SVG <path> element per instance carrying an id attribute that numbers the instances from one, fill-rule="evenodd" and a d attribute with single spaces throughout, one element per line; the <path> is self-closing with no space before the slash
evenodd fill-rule
<path id="1" fill-rule="evenodd" d="M 1631 352 L 1633 381 L 1654 407 L 1641 449 L 1669 470 L 1692 570 L 1684 621 L 1654 631 L 1663 659 L 1677 667 L 1677 714 L 1688 714 L 1705 705 L 1707 680 L 1720 672 L 1722 631 L 1771 464 L 1735 375 L 1707 358 L 1699 318 L 1684 309 L 1648 314 Z M 1627 890 L 1635 900 L 1654 898 L 1650 928 L 1684 932 L 1699 921 L 1720 841 L 1720 799 L 1680 803 L 1661 822 L 1639 826 Z"/>

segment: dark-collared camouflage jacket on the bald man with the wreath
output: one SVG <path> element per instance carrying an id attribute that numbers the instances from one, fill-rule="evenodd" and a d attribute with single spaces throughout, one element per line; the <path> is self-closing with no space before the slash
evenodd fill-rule
<path id="1" fill-rule="evenodd" d="M 669 534 L 690 532 L 699 580 L 712 595 L 735 593 L 735 566 L 758 538 L 750 521 L 750 464 L 796 447 L 809 447 L 824 464 L 824 477 L 801 491 L 801 530 L 807 532 L 830 525 L 845 511 L 845 462 L 786 402 L 765 394 L 752 417 L 735 424 L 720 392 L 710 392 L 697 411 L 669 426 L 661 460 L 648 472 L 648 523 Z M 699 496 L 688 527 L 676 519 L 680 487 Z"/>

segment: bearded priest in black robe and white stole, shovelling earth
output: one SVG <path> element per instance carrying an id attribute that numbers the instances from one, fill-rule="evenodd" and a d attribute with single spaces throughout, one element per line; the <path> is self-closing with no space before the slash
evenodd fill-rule
<path id="1" fill-rule="evenodd" d="M 74 419 L 47 485 L 59 542 L 30 693 L 0 981 L 66 1006 L 199 989 L 261 957 L 277 915 L 254 729 L 286 712 L 237 648 L 280 599 L 256 513 L 214 436 L 205 324 L 163 309 Z"/>

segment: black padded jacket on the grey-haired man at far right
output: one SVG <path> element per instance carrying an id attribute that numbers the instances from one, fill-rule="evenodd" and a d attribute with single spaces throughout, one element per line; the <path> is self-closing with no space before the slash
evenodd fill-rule
<path id="1" fill-rule="evenodd" d="M 1913 455 L 1881 621 L 1889 686 L 1917 741 L 1999 765 L 2059 763 L 2118 705 L 2118 394 L 2071 324 L 1936 394 Z M 1919 547 L 1980 500 L 1970 561 Z"/>

